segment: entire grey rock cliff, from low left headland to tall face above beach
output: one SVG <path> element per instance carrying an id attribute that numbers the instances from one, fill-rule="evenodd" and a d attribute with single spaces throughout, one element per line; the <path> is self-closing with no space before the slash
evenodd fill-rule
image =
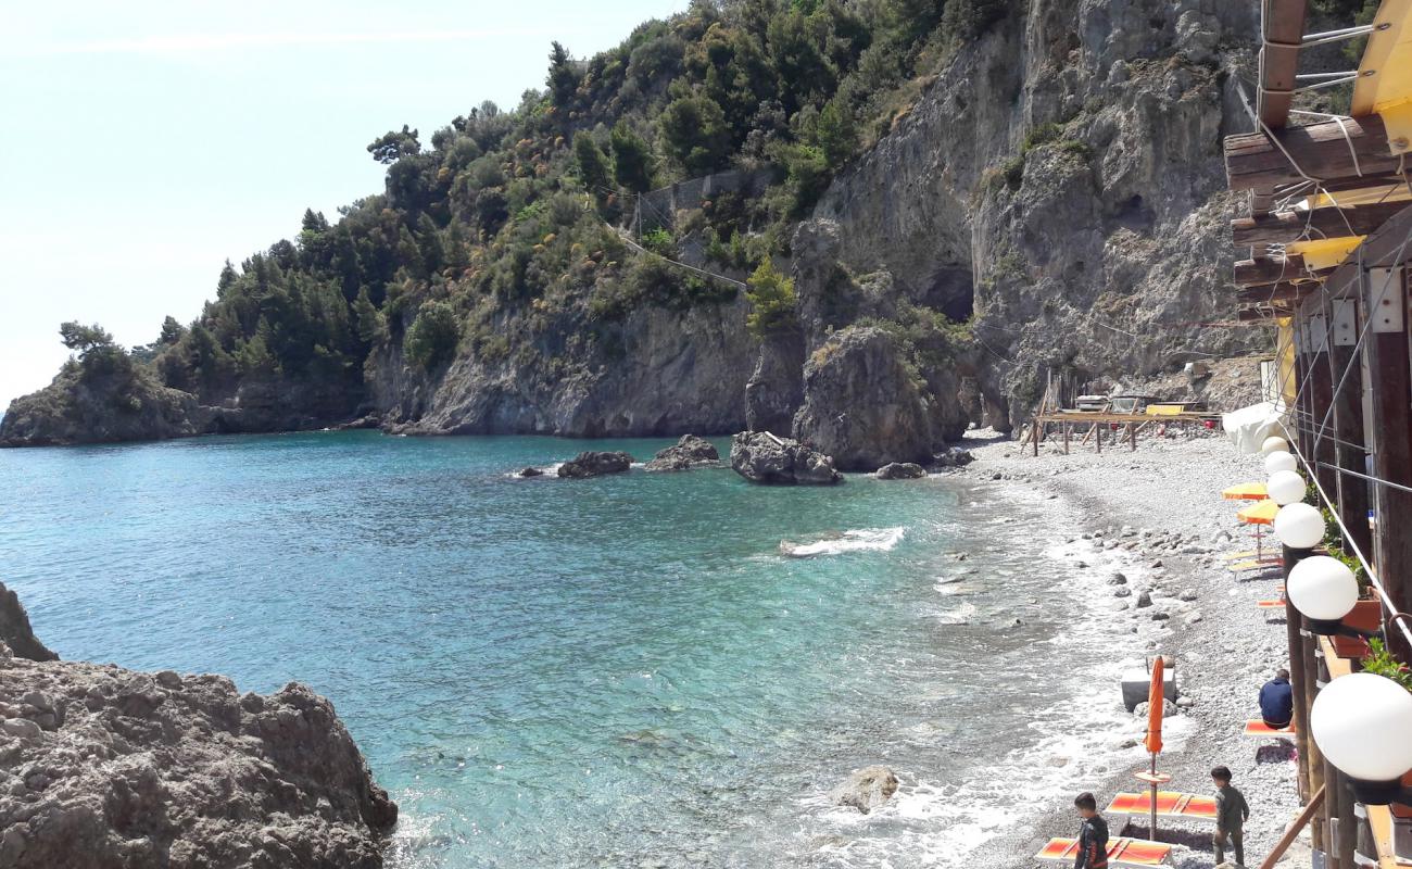
<path id="1" fill-rule="evenodd" d="M 741 295 L 698 300 L 669 281 L 661 291 L 638 281 L 631 304 L 602 315 L 594 305 L 623 283 L 604 276 L 634 256 L 609 233 L 573 246 L 546 297 L 481 297 L 466 315 L 474 336 L 463 335 L 439 365 L 415 365 L 404 352 L 418 308 L 388 314 L 393 339 L 384 332 L 374 343 L 356 396 L 284 401 L 247 383 L 219 408 L 202 408 L 185 393 L 148 390 L 143 413 L 121 425 L 72 410 L 88 401 L 40 413 L 27 397 L 0 425 L 0 442 L 268 431 L 371 414 L 414 434 L 750 427 L 846 439 L 847 465 L 863 468 L 919 458 L 967 422 L 1011 427 L 1038 403 L 1049 370 L 1077 382 L 1145 380 L 1189 360 L 1264 349 L 1260 329 L 1204 325 L 1230 317 L 1220 141 L 1248 126 L 1236 73 L 1248 76 L 1257 10 L 1219 0 L 1015 6 L 956 49 L 794 227 L 779 263 L 795 280 L 798 309 L 764 342 L 746 329 Z M 390 201 L 394 194 L 390 174 Z M 590 225 L 602 233 L 575 208 L 565 219 L 580 220 L 579 236 L 589 237 Z M 556 243 L 552 233 L 524 235 L 541 240 L 535 252 Z M 415 252 L 408 244 L 398 250 Z M 676 256 L 723 268 L 699 243 Z M 466 274 L 481 268 L 473 261 Z M 826 376 L 809 369 L 850 326 L 880 328 L 888 339 Z M 867 372 L 840 370 L 850 360 L 907 376 L 890 377 L 898 389 L 870 393 L 857 387 Z M 846 435 L 837 425 L 844 406 L 856 408 Z M 898 428 L 904 417 L 921 421 Z"/>

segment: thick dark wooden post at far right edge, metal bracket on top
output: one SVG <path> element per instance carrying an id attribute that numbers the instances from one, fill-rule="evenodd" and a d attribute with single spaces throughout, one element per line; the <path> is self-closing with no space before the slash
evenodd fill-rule
<path id="1" fill-rule="evenodd" d="M 1368 366 L 1368 390 L 1372 393 L 1372 476 L 1412 485 L 1412 372 L 1408 367 L 1406 288 L 1405 268 L 1368 268 L 1364 284 L 1372 321 L 1364 341 Z M 1382 588 L 1392 599 L 1392 608 L 1412 608 L 1412 534 L 1406 521 L 1412 517 L 1412 495 L 1389 486 L 1374 485 L 1377 531 L 1374 534 L 1374 565 Z M 1402 634 L 1388 632 L 1388 646 L 1401 660 L 1409 660 Z"/>

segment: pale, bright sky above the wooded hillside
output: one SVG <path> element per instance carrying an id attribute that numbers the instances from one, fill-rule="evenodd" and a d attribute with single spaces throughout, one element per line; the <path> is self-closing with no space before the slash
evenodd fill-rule
<path id="1" fill-rule="evenodd" d="M 549 42 L 610 48 L 688 0 L 0 4 L 0 410 L 68 357 L 62 321 L 148 343 L 305 208 L 381 192 L 366 147 L 542 88 Z"/>

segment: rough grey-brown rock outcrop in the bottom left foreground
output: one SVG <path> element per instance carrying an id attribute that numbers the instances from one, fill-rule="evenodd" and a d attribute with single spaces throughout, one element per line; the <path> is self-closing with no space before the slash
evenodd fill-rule
<path id="1" fill-rule="evenodd" d="M 0 599 L 13 601 L 3 585 Z M 397 804 L 328 699 L 35 661 L 8 644 L 28 619 L 4 627 L 0 866 L 383 865 Z"/>

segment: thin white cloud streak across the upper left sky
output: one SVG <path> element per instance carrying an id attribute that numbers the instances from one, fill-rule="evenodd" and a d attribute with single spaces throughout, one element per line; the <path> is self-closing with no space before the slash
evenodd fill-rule
<path id="1" fill-rule="evenodd" d="M 16 45 L 4 51 L 11 57 L 59 57 L 79 54 L 179 54 L 232 48 L 287 48 L 308 45 L 373 45 L 408 42 L 462 42 L 496 37 L 532 35 L 528 28 L 500 30 L 414 30 L 404 32 L 230 32 L 172 34 L 131 40 L 90 40 Z"/>

